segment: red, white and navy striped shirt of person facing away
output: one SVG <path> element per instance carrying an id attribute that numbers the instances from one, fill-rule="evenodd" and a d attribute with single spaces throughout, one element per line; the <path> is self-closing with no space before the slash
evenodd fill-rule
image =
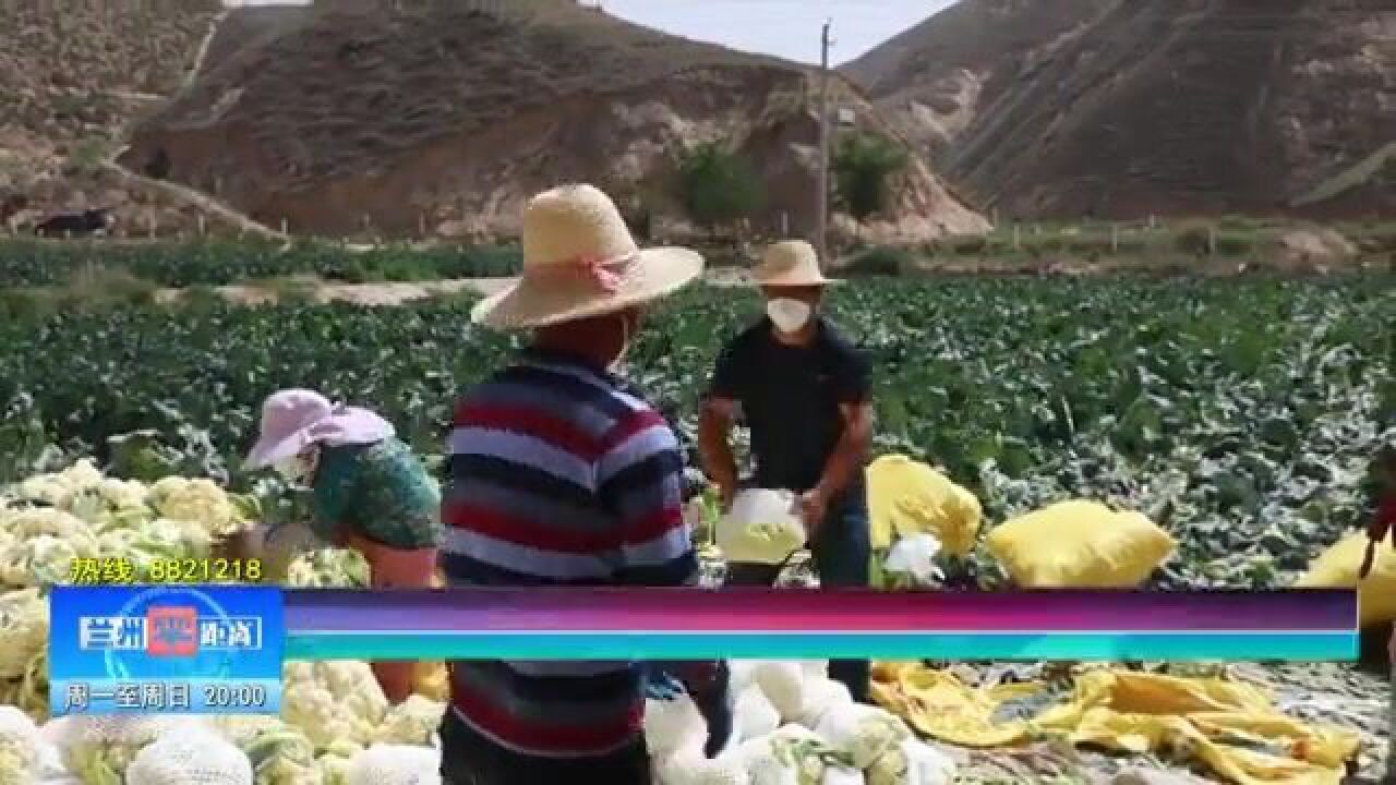
<path id="1" fill-rule="evenodd" d="M 687 585 L 673 430 L 614 376 L 526 351 L 455 408 L 443 493 L 443 568 L 456 587 Z M 528 756 L 586 757 L 635 740 L 635 662 L 451 663 L 469 726 Z"/>

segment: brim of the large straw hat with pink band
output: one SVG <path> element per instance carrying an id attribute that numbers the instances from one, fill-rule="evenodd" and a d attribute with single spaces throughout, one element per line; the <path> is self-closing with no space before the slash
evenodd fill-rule
<path id="1" fill-rule="evenodd" d="M 644 249 L 614 292 L 518 278 L 476 303 L 470 320 L 497 330 L 525 330 L 604 316 L 664 298 L 702 275 L 702 254 L 690 249 Z"/>

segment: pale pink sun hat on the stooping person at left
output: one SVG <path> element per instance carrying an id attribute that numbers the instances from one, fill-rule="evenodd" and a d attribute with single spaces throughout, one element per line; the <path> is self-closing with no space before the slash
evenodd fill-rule
<path id="1" fill-rule="evenodd" d="M 369 409 L 331 404 L 313 390 L 281 390 L 262 404 L 261 436 L 244 468 L 269 467 L 313 444 L 373 444 L 395 433 Z"/>

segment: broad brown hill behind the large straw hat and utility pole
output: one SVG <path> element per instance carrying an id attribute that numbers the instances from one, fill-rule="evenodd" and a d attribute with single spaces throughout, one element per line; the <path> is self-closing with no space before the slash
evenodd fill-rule
<path id="1" fill-rule="evenodd" d="M 229 22 L 190 88 L 121 156 L 168 162 L 293 232 L 511 233 L 521 200 L 558 182 L 642 200 L 674 232 L 659 180 L 677 147 L 725 140 L 757 162 L 755 229 L 812 225 L 815 87 L 797 66 L 670 36 L 572 0 L 331 1 Z M 886 134 L 856 91 L 857 123 Z M 984 228 L 920 162 L 877 237 Z"/>

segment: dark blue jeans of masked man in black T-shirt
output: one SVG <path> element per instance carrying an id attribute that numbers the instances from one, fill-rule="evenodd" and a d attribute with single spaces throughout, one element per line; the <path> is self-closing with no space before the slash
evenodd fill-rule
<path id="1" fill-rule="evenodd" d="M 866 588 L 872 542 L 868 534 L 867 497 L 859 490 L 829 508 L 824 524 L 810 543 L 819 585 L 829 588 Z M 727 585 L 773 585 L 779 577 L 776 564 L 727 564 Z M 853 700 L 867 703 L 871 663 L 866 659 L 835 659 L 829 662 L 829 677 L 842 682 Z"/>

